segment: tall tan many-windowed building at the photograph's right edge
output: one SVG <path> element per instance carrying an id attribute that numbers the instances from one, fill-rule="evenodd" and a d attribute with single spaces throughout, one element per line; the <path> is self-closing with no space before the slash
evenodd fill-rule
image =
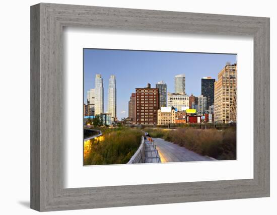
<path id="1" fill-rule="evenodd" d="M 237 64 L 226 63 L 218 74 L 218 81 L 215 82 L 215 122 L 228 123 L 230 121 L 230 111 L 236 99 L 236 89 Z M 234 116 L 236 116 L 235 106 L 232 120 L 236 121 Z"/>

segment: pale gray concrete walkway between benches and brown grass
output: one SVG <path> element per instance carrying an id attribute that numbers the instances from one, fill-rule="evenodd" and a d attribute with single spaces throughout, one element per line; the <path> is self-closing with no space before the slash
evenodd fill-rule
<path id="1" fill-rule="evenodd" d="M 162 163 L 182 161 L 213 161 L 216 159 L 198 155 L 195 152 L 180 147 L 161 138 L 153 138 L 159 151 Z"/>

